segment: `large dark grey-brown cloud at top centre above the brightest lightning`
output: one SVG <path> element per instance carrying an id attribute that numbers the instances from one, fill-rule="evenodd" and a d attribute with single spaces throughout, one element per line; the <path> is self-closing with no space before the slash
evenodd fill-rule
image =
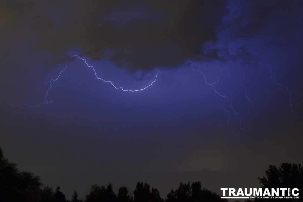
<path id="1" fill-rule="evenodd" d="M 135 16 L 122 24 L 104 20 L 111 12 L 138 6 L 146 16 Z M 139 8 L 138 8 L 139 9 Z M 160 21 L 148 17 L 155 14 Z M 215 25 L 226 14 L 225 3 L 216 1 L 80 1 L 75 12 L 78 24 L 50 36 L 37 45 L 53 58 L 80 47 L 82 56 L 92 60 L 107 58 L 119 67 L 149 70 L 178 67 L 186 60 L 221 59 L 217 50 L 204 50 L 216 42 Z M 120 16 L 127 18 L 128 16 Z"/>

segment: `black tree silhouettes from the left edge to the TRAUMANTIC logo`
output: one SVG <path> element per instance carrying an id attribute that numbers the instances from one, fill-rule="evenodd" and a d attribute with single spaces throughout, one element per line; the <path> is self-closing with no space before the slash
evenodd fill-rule
<path id="1" fill-rule="evenodd" d="M 132 196 L 133 194 L 133 196 Z M 126 187 L 120 187 L 118 194 L 113 190 L 112 184 L 106 187 L 97 184 L 91 187 L 90 193 L 85 196 L 85 202 L 164 202 L 158 189 L 150 188 L 149 184 L 138 182 L 136 189 L 130 193 Z M 78 199 L 78 193 L 67 200 L 60 187 L 53 190 L 44 186 L 38 176 L 30 172 L 21 172 L 17 165 L 10 163 L 3 156 L 0 147 L 0 202 L 84 202 Z M 227 201 L 221 200 L 215 192 L 201 189 L 200 182 L 190 184 L 180 183 L 177 190 L 171 190 L 166 202 L 179 201 Z"/>

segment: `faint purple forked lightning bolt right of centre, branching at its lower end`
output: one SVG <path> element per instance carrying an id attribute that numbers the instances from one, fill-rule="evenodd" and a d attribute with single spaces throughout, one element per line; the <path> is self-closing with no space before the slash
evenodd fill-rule
<path id="1" fill-rule="evenodd" d="M 216 81 L 216 82 L 210 84 L 210 83 L 207 82 L 207 80 L 206 80 L 206 78 L 205 78 L 205 74 L 204 74 L 202 71 L 195 70 L 194 68 L 192 68 L 192 66 L 191 66 L 191 69 L 194 70 L 195 72 L 200 72 L 200 73 L 203 75 L 203 78 L 204 78 L 204 80 L 205 80 L 205 83 L 206 83 L 207 85 L 211 86 L 212 88 L 214 88 L 215 93 L 218 94 L 218 95 L 220 96 L 221 99 L 223 98 L 223 103 L 221 104 L 221 107 L 224 109 L 224 111 L 226 111 L 226 113 L 227 113 L 227 115 L 228 115 L 228 122 L 227 122 L 227 124 L 225 124 L 225 125 L 219 125 L 219 126 L 228 126 L 228 125 L 229 125 L 230 116 L 231 116 L 230 112 L 232 112 L 232 113 L 234 113 L 235 115 L 239 115 L 239 116 L 240 116 L 240 123 L 239 123 L 239 125 L 240 125 L 240 130 L 239 130 L 239 132 L 242 131 L 242 130 L 244 130 L 244 131 L 252 131 L 252 129 L 244 129 L 244 128 L 242 128 L 241 121 L 242 121 L 242 119 L 243 119 L 243 116 L 242 116 L 240 113 L 235 112 L 235 110 L 234 110 L 234 108 L 233 108 L 232 99 L 231 99 L 229 96 L 222 95 L 222 94 L 220 94 L 220 93 L 217 92 L 217 90 L 216 90 L 214 84 L 218 83 L 218 77 L 217 77 L 217 81 Z M 244 87 L 244 86 L 243 86 L 243 87 Z M 246 91 L 245 91 L 245 94 L 246 94 Z M 246 97 L 247 97 L 247 94 L 246 94 Z M 247 97 L 247 98 L 248 98 L 248 97 Z M 248 100 L 250 101 L 249 98 L 248 98 Z M 228 103 L 231 104 L 231 108 L 230 108 L 231 110 L 228 110 L 227 108 L 224 107 L 225 101 L 227 101 Z M 221 107 L 220 107 L 220 108 L 221 108 Z M 238 133 L 239 133 L 239 132 L 238 132 Z"/>

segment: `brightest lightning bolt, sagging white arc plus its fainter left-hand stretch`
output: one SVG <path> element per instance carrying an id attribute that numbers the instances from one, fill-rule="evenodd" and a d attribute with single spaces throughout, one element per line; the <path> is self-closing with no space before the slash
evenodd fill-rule
<path id="1" fill-rule="evenodd" d="M 78 57 L 78 58 L 80 58 L 81 60 L 83 60 L 83 61 L 85 62 L 85 64 L 86 64 L 89 68 L 92 68 L 93 71 L 94 71 L 94 73 L 95 73 L 95 76 L 96 76 L 96 78 L 97 78 L 98 80 L 102 80 L 102 81 L 104 81 L 104 82 L 110 83 L 110 84 L 112 84 L 112 86 L 113 86 L 115 89 L 121 89 L 122 91 L 131 91 L 131 92 L 143 91 L 143 90 L 145 90 L 146 88 L 150 87 L 152 84 L 154 84 L 155 81 L 157 80 L 158 74 L 160 74 L 160 71 L 159 71 L 159 72 L 157 73 L 157 75 L 156 75 L 155 80 L 152 81 L 151 84 L 149 84 L 149 85 L 146 86 L 145 88 L 138 89 L 138 90 L 130 90 L 130 89 L 125 90 L 125 89 L 123 89 L 122 87 L 116 87 L 116 86 L 112 83 L 112 81 L 106 81 L 106 80 L 104 80 L 104 79 L 102 79 L 102 78 L 99 78 L 99 77 L 97 76 L 97 73 L 96 73 L 96 71 L 95 71 L 95 68 L 94 68 L 93 66 L 89 66 L 88 63 L 86 62 L 86 59 L 81 58 L 81 57 L 79 57 L 78 55 L 74 55 L 74 56 L 72 56 L 71 58 L 73 58 L 73 57 Z M 52 101 L 47 101 L 48 92 L 49 92 L 49 91 L 51 90 L 51 88 L 52 88 L 52 84 L 51 84 L 51 83 L 52 83 L 52 81 L 57 81 L 58 78 L 61 76 L 61 73 L 62 73 L 63 71 L 65 71 L 66 68 L 67 68 L 67 65 L 66 65 L 66 67 L 65 67 L 62 71 L 60 71 L 60 74 L 58 75 L 58 77 L 57 77 L 56 79 L 51 79 L 50 81 L 48 81 L 50 87 L 49 87 L 48 90 L 46 91 L 45 99 L 44 99 L 44 101 L 43 101 L 41 104 L 35 105 L 35 106 L 31 106 L 31 105 L 23 104 L 23 103 L 21 103 L 21 104 L 22 104 L 23 106 L 27 106 L 27 107 L 33 108 L 33 107 L 39 107 L 39 106 L 41 106 L 42 104 L 52 103 L 53 100 L 52 100 Z M 13 107 L 13 106 L 15 106 L 15 105 L 12 104 L 11 106 Z"/>

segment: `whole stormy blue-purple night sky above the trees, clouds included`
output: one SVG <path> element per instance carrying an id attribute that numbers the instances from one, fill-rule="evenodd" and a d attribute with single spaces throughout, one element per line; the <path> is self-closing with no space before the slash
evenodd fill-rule
<path id="1" fill-rule="evenodd" d="M 110 182 L 147 182 L 163 198 L 180 181 L 260 187 L 268 165 L 303 163 L 302 10 L 2 0 L 4 155 L 67 198 Z"/>

